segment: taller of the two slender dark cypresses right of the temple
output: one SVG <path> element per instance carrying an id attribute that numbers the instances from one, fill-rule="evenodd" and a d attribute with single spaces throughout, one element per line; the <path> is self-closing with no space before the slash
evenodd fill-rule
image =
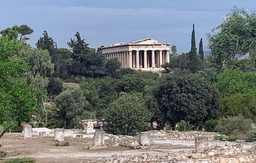
<path id="1" fill-rule="evenodd" d="M 196 52 L 196 39 L 195 39 L 195 25 L 193 24 L 193 31 L 191 36 L 191 51 L 190 51 L 190 64 L 189 68 L 191 72 L 196 72 L 198 69 L 198 60 Z"/>

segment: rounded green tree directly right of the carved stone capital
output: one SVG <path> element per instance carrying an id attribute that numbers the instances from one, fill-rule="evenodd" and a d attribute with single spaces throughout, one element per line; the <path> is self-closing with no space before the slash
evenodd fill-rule
<path id="1" fill-rule="evenodd" d="M 116 134 L 135 136 L 150 130 L 152 114 L 148 111 L 142 93 L 122 93 L 104 110 L 103 117 Z"/>

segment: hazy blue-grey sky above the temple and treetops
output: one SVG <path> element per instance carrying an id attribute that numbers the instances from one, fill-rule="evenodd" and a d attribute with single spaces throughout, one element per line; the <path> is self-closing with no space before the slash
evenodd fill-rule
<path id="1" fill-rule="evenodd" d="M 91 48 L 152 38 L 176 45 L 181 54 L 190 51 L 193 24 L 197 48 L 202 38 L 208 50 L 205 33 L 234 5 L 256 7 L 253 0 L 3 0 L 0 29 L 28 25 L 32 47 L 46 30 L 58 48 L 69 48 L 78 31 Z"/>

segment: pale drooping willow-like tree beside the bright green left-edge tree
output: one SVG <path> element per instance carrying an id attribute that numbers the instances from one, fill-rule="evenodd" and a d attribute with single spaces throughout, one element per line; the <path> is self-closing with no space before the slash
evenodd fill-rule
<path id="1" fill-rule="evenodd" d="M 54 69 L 48 50 L 41 48 L 31 49 L 30 45 L 23 44 L 19 58 L 26 58 L 29 69 L 23 71 L 24 80 L 27 86 L 33 92 L 33 99 L 37 102 L 37 112 L 35 114 L 37 121 L 41 124 L 45 116 L 44 101 L 47 94 L 48 78 Z"/>

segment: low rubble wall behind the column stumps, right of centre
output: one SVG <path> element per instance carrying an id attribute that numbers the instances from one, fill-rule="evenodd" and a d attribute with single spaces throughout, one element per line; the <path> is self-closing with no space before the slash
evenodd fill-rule
<path id="1" fill-rule="evenodd" d="M 151 132 L 151 137 L 170 137 L 175 138 L 177 140 L 195 140 L 195 137 L 198 136 L 207 136 L 209 139 L 213 139 L 214 136 L 218 136 L 220 134 L 216 132 L 200 132 L 200 131 L 187 131 L 187 132 L 178 132 L 178 131 L 157 131 L 153 130 Z M 227 137 L 226 135 L 223 135 Z"/>

